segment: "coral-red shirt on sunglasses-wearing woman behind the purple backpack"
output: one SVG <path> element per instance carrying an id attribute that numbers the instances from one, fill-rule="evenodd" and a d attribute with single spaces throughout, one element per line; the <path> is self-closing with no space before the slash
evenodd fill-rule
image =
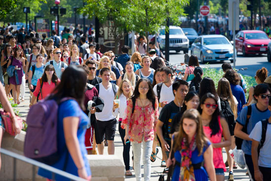
<path id="1" fill-rule="evenodd" d="M 60 79 L 58 79 L 57 84 L 60 83 Z M 51 84 L 49 84 L 48 82 L 43 82 L 42 88 L 41 88 L 41 93 L 39 94 L 39 98 L 38 100 L 42 100 L 44 98 L 46 98 L 49 94 L 52 93 L 52 91 L 55 89 L 56 84 L 51 82 Z M 40 80 L 38 79 L 36 82 L 36 89 L 33 93 L 33 95 L 35 97 L 37 97 L 38 93 L 39 93 L 39 89 L 40 89 Z M 41 99 L 42 96 L 42 99 Z"/>

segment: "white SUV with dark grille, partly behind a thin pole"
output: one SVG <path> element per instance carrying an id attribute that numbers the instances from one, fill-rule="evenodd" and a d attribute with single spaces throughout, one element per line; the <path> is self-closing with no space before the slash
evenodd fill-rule
<path id="1" fill-rule="evenodd" d="M 166 35 L 165 28 L 160 30 L 158 41 L 160 42 L 160 48 L 165 51 Z M 184 35 L 182 29 L 177 26 L 169 26 L 169 50 L 175 50 L 184 53 L 188 53 L 189 39 Z"/>

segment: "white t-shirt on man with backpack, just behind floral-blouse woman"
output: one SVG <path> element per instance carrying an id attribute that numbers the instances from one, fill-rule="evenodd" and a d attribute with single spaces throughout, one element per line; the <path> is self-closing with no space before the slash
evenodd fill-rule
<path id="1" fill-rule="evenodd" d="M 158 96 L 157 94 L 157 84 L 153 87 L 154 94 Z M 161 92 L 160 92 L 160 100 L 159 103 L 162 103 L 163 101 L 168 101 L 170 103 L 174 100 L 174 94 L 172 90 L 172 84 L 168 87 L 166 84 L 162 84 Z M 162 108 L 159 107 L 159 113 L 161 112 Z"/>

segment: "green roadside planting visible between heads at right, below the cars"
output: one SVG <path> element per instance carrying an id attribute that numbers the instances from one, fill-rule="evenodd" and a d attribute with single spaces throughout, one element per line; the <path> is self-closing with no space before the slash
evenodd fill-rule
<path id="1" fill-rule="evenodd" d="M 241 73 L 239 73 L 241 74 Z M 215 83 L 215 88 L 217 88 L 217 84 L 218 84 L 218 81 L 220 78 L 222 78 L 224 75 L 224 72 L 222 71 L 222 69 L 220 69 L 219 71 L 216 70 L 216 69 L 211 69 L 209 66 L 207 66 L 206 68 L 203 68 L 203 77 L 210 77 L 213 79 L 214 83 Z M 249 88 L 254 86 L 254 85 L 257 85 L 256 84 L 256 81 L 254 79 L 254 77 L 252 76 L 247 76 L 247 75 L 243 75 L 241 74 L 245 83 L 246 83 L 246 86 L 247 86 L 247 89 L 246 89 L 246 94 L 245 94 L 245 97 L 246 99 L 248 98 L 248 92 L 249 92 Z"/>

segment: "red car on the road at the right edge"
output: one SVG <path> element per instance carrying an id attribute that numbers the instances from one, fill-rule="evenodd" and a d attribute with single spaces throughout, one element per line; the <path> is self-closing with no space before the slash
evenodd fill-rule
<path id="1" fill-rule="evenodd" d="M 244 30 L 236 35 L 236 50 L 247 54 L 266 54 L 270 42 L 267 34 L 260 30 Z"/>

